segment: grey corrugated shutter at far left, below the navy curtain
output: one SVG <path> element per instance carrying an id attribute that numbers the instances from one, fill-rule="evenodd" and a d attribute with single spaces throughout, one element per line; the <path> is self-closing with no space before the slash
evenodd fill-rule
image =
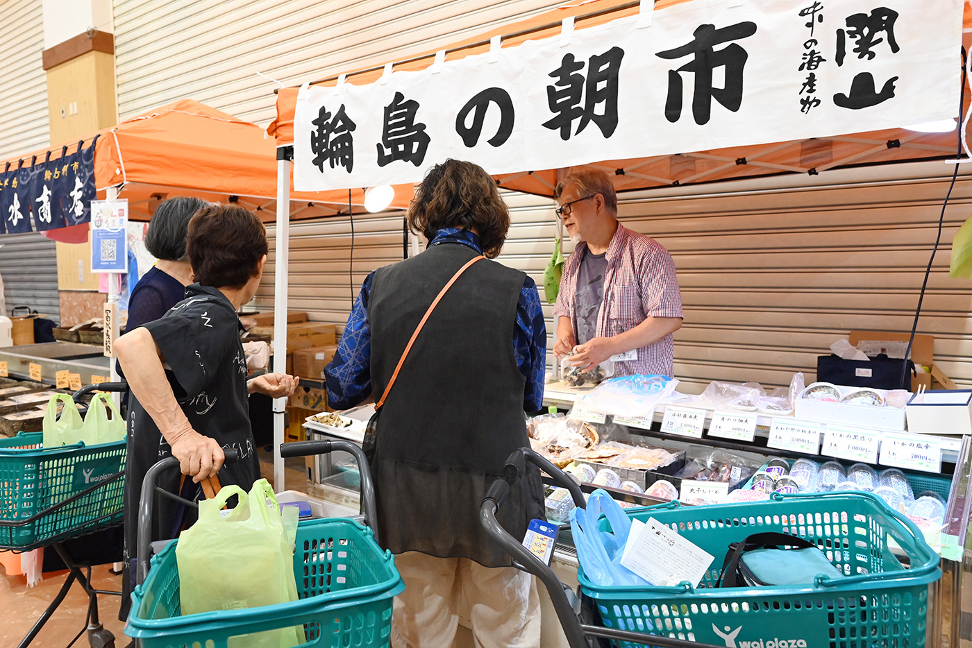
<path id="1" fill-rule="evenodd" d="M 60 320 L 57 294 L 57 253 L 54 242 L 38 232 L 0 237 L 0 277 L 3 277 L 7 313 L 29 306 Z"/>

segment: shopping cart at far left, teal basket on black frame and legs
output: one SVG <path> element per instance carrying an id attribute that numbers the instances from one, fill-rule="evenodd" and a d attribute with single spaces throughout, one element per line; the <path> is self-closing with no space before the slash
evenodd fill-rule
<path id="1" fill-rule="evenodd" d="M 73 394 L 123 392 L 125 383 L 89 385 Z M 18 644 L 29 645 L 77 581 L 88 596 L 86 628 L 92 648 L 114 648 L 115 635 L 98 620 L 90 565 L 76 563 L 65 541 L 121 525 L 125 441 L 43 448 L 43 432 L 19 432 L 0 440 L 0 550 L 51 547 L 70 570 L 57 596 Z M 84 569 L 87 569 L 84 571 Z M 73 643 L 73 642 L 72 642 Z"/>

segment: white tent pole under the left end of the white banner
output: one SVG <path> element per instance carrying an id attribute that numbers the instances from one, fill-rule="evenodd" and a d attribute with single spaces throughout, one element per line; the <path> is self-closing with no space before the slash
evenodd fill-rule
<path id="1" fill-rule="evenodd" d="M 294 147 L 277 149 L 277 233 L 273 264 L 273 371 L 287 373 L 287 280 L 290 255 L 291 158 Z M 284 485 L 284 416 L 287 398 L 273 399 L 273 487 L 277 493 Z"/>

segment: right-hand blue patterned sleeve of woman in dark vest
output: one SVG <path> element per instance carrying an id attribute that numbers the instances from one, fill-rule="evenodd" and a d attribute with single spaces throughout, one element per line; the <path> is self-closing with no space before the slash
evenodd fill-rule
<path id="1" fill-rule="evenodd" d="M 546 324 L 537 284 L 527 277 L 516 303 L 513 353 L 520 373 L 527 379 L 523 409 L 538 412 L 543 406 L 543 377 L 546 371 Z"/>

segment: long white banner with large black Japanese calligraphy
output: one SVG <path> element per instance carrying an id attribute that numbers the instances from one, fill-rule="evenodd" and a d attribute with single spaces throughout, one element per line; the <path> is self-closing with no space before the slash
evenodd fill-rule
<path id="1" fill-rule="evenodd" d="M 961 0 L 696 0 L 305 87 L 295 188 L 417 182 L 447 157 L 499 174 L 946 119 L 961 24 Z"/>

